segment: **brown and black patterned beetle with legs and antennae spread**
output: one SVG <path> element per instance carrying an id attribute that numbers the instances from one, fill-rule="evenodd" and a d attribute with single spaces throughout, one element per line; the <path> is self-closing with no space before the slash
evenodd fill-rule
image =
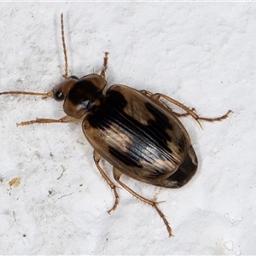
<path id="1" fill-rule="evenodd" d="M 64 36 L 63 14 L 61 14 L 61 40 L 65 60 L 64 80 L 47 93 L 27 91 L 5 91 L 0 95 L 23 94 L 53 97 L 64 102 L 66 113 L 61 119 L 35 119 L 17 125 L 70 123 L 82 121 L 84 136 L 94 148 L 96 167 L 113 189 L 115 201 L 112 212 L 119 204 L 117 186 L 100 166 L 107 160 L 113 166 L 113 178 L 124 189 L 140 201 L 154 207 L 166 224 L 168 235 L 172 229 L 158 202 L 138 195 L 121 182 L 125 174 L 143 183 L 177 189 L 188 183 L 195 175 L 198 160 L 191 145 L 189 134 L 179 117 L 190 115 L 200 120 L 219 121 L 226 119 L 229 110 L 221 117 L 210 119 L 199 117 L 195 108 L 188 108 L 169 96 L 148 90 L 136 90 L 125 85 L 112 85 L 106 89 L 108 52 L 105 52 L 102 72 L 91 73 L 82 78 L 68 76 L 67 49 Z M 167 103 L 177 105 L 185 113 L 172 111 Z"/>

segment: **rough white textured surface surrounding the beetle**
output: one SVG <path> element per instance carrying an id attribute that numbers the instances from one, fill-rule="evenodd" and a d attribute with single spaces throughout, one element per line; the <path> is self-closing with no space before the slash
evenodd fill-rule
<path id="1" fill-rule="evenodd" d="M 70 73 L 99 72 L 109 51 L 108 84 L 162 92 L 207 117 L 234 113 L 203 131 L 182 119 L 200 163 L 182 189 L 124 178 L 166 201 L 168 238 L 154 209 L 124 189 L 108 214 L 113 193 L 79 123 L 16 127 L 61 118 L 60 102 L 0 96 L 0 254 L 255 254 L 256 4 L 1 3 L 0 91 L 61 81 L 61 12 Z"/>

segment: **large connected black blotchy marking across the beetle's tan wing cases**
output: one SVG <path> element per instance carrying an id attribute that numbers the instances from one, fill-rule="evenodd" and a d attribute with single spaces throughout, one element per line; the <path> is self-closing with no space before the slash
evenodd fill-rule
<path id="1" fill-rule="evenodd" d="M 154 115 L 154 120 L 149 120 L 148 125 L 142 125 L 137 119 L 125 113 L 126 105 L 125 97 L 121 93 L 109 90 L 106 97 L 102 99 L 101 106 L 86 118 L 96 129 L 107 130 L 111 129 L 110 125 L 114 125 L 131 138 L 132 145 L 127 143 L 124 152 L 110 146 L 109 153 L 127 166 L 143 167 L 141 161 L 146 160 L 143 154 L 145 151 L 149 154 L 145 150 L 149 146 L 155 148 L 154 153 L 150 153 L 147 158 L 150 164 L 154 164 L 155 159 L 172 160 L 172 150 L 166 143 L 171 139 L 165 131 L 167 128 L 171 128 L 166 120 L 167 117 L 150 104 L 148 111 Z M 158 125 L 158 122 L 161 126 Z"/>

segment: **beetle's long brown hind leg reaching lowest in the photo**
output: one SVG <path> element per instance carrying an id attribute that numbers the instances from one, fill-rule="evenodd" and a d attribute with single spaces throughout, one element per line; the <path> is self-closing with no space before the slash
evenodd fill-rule
<path id="1" fill-rule="evenodd" d="M 125 183 L 122 183 L 120 181 L 120 177 L 123 173 L 120 172 L 117 168 L 113 167 L 113 177 L 114 179 L 124 188 L 126 189 L 129 193 L 131 193 L 131 195 L 134 195 L 135 197 L 137 197 L 137 199 L 139 199 L 140 201 L 145 202 L 146 204 L 154 207 L 154 209 L 156 210 L 156 212 L 158 212 L 158 214 L 160 215 L 160 218 L 162 218 L 162 220 L 164 221 L 164 223 L 166 224 L 166 229 L 168 231 L 169 236 L 172 236 L 172 228 L 170 227 L 170 224 L 168 223 L 165 215 L 163 212 L 160 211 L 159 207 L 157 207 L 158 202 L 156 201 L 151 201 L 145 197 L 143 197 L 142 195 L 138 195 L 135 191 L 133 191 L 132 189 L 130 189 L 128 186 L 125 185 Z"/>

